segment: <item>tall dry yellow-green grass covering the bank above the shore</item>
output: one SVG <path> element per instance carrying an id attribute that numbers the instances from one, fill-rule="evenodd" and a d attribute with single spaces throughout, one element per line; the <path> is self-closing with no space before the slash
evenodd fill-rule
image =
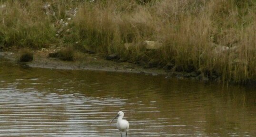
<path id="1" fill-rule="evenodd" d="M 256 80 L 256 0 L 90 1 L 1 0 L 0 44 L 72 46 L 226 82 Z"/>

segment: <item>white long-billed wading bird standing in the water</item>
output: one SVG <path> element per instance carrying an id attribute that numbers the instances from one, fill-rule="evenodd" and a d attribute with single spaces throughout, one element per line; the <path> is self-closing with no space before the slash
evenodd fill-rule
<path id="1" fill-rule="evenodd" d="M 122 132 L 126 132 L 125 137 L 127 137 L 127 132 L 129 130 L 129 122 L 127 120 L 123 119 L 124 118 L 124 112 L 119 111 L 118 115 L 114 119 L 116 119 L 117 117 L 118 117 L 117 127 L 118 127 L 118 130 L 121 133 L 121 137 L 123 137 Z M 110 121 L 110 123 L 112 123 L 114 119 L 112 119 Z"/>

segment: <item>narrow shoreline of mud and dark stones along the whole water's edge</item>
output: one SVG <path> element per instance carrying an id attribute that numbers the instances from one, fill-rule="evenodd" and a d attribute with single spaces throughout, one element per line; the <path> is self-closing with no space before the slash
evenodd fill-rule
<path id="1" fill-rule="evenodd" d="M 3 51 L 0 52 L 0 58 L 8 59 L 12 62 L 22 64 L 28 67 L 48 68 L 48 69 L 63 69 L 63 70 L 90 70 L 90 71 L 104 71 L 117 73 L 140 73 L 152 76 L 164 76 L 165 78 L 186 79 L 191 81 L 198 81 L 204 83 L 224 84 L 220 77 L 212 80 L 202 74 L 194 72 L 177 72 L 166 70 L 163 68 L 152 67 L 145 68 L 143 65 L 133 64 L 129 62 L 118 62 L 107 60 L 106 57 L 99 54 L 80 53 L 74 61 L 62 61 L 59 58 L 49 57 L 49 53 L 55 50 L 34 50 L 33 60 L 31 62 L 19 62 L 19 51 Z M 246 83 L 245 85 L 255 85 L 255 81 Z M 233 83 L 234 84 L 234 83 Z M 239 84 L 234 84 L 239 85 Z"/>

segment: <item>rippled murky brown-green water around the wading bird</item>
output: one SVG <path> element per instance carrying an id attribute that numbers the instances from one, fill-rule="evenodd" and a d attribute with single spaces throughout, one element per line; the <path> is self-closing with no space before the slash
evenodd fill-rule
<path id="1" fill-rule="evenodd" d="M 119 137 L 119 110 L 128 137 L 256 137 L 256 87 L 0 60 L 0 137 Z"/>

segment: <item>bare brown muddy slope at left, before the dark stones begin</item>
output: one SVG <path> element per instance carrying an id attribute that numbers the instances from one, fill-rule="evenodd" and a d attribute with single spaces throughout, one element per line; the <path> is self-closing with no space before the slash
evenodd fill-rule
<path id="1" fill-rule="evenodd" d="M 58 58 L 49 57 L 49 53 L 52 52 L 53 51 L 34 51 L 33 61 L 21 64 L 30 67 L 51 69 L 80 69 L 122 73 L 145 73 L 151 75 L 168 74 L 163 69 L 145 69 L 143 68 L 143 66 L 139 66 L 128 62 L 115 62 L 106 60 L 105 57 L 98 54 L 81 53 L 77 55 L 75 61 L 62 61 Z M 0 57 L 19 63 L 19 53 L 17 52 L 0 52 Z"/>

